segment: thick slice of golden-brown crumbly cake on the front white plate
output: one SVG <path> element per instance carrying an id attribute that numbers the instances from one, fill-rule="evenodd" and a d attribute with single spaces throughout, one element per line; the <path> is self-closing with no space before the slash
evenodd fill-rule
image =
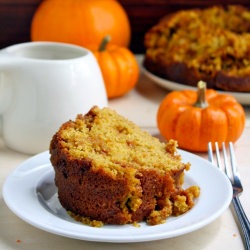
<path id="1" fill-rule="evenodd" d="M 194 205 L 199 188 L 183 190 L 177 143 L 162 143 L 109 108 L 93 107 L 64 123 L 50 153 L 62 206 L 91 225 L 163 223 Z"/>

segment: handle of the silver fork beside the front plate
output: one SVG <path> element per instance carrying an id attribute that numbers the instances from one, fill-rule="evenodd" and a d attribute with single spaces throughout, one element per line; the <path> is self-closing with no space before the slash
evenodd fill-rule
<path id="1" fill-rule="evenodd" d="M 242 235 L 244 237 L 245 240 L 245 248 L 246 250 L 250 250 L 250 223 L 249 220 L 241 206 L 241 202 L 239 197 L 236 195 L 233 197 L 233 205 L 234 205 L 234 209 L 235 212 L 238 216 L 239 222 L 240 222 L 240 226 L 241 226 L 241 231 L 242 231 Z"/>

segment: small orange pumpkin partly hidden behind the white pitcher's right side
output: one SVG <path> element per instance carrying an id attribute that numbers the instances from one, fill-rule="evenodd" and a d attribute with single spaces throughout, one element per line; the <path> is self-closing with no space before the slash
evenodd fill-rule
<path id="1" fill-rule="evenodd" d="M 102 71 L 108 98 L 114 98 L 126 94 L 136 85 L 140 70 L 129 49 L 115 45 L 106 47 L 110 39 L 106 36 L 93 54 Z"/>

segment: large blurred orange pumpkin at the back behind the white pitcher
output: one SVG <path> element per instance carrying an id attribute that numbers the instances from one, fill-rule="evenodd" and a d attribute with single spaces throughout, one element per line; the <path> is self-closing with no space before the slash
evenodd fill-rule
<path id="1" fill-rule="evenodd" d="M 131 28 L 128 16 L 115 0 L 45 0 L 31 24 L 32 41 L 56 41 L 97 49 L 105 35 L 127 47 Z"/>

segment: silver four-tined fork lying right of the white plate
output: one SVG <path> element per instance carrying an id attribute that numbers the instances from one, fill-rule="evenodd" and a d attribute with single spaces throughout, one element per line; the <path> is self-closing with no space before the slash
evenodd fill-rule
<path id="1" fill-rule="evenodd" d="M 239 172 L 237 169 L 236 158 L 235 158 L 234 149 L 233 149 L 233 143 L 229 142 L 228 147 L 229 147 L 229 154 L 230 154 L 231 171 L 230 171 L 230 166 L 228 163 L 226 146 L 225 146 L 225 143 L 222 143 L 222 154 L 223 154 L 223 159 L 224 159 L 225 173 L 232 183 L 232 187 L 233 187 L 232 203 L 233 203 L 235 213 L 236 213 L 238 220 L 239 220 L 241 233 L 242 233 L 244 243 L 245 243 L 245 248 L 247 250 L 250 250 L 250 224 L 249 224 L 249 220 L 248 220 L 248 218 L 243 210 L 241 202 L 239 200 L 239 195 L 243 192 L 243 187 L 242 187 L 240 175 L 239 175 Z M 223 171 L 219 146 L 218 146 L 217 142 L 215 143 L 215 154 L 216 154 L 217 164 L 215 163 L 214 157 L 213 157 L 212 143 L 209 142 L 208 143 L 208 160 L 214 166 L 217 165 L 218 168 L 221 171 Z"/>

